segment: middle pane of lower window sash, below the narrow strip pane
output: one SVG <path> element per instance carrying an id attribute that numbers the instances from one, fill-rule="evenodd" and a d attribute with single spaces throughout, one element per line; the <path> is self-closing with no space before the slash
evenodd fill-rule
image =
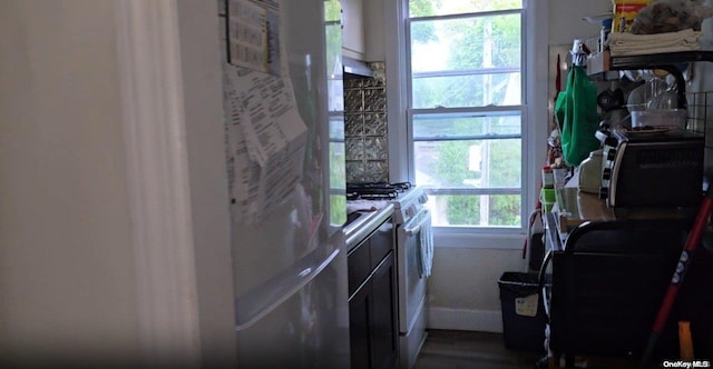
<path id="1" fill-rule="evenodd" d="M 520 139 L 413 142 L 416 182 L 437 188 L 520 188 Z"/>

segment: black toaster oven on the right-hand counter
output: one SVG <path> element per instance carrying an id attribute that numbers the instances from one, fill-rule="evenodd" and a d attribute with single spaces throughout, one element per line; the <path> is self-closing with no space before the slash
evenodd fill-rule
<path id="1" fill-rule="evenodd" d="M 599 197 L 613 208 L 696 207 L 703 148 L 703 134 L 687 130 L 612 130 L 604 140 Z"/>

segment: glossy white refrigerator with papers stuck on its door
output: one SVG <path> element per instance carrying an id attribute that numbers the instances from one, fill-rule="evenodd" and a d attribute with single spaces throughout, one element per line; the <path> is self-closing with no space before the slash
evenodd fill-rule
<path id="1" fill-rule="evenodd" d="M 349 368 L 339 0 L 222 0 L 240 368 Z"/>

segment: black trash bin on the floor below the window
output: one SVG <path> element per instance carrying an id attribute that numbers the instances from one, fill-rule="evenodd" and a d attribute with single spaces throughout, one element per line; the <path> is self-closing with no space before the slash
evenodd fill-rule
<path id="1" fill-rule="evenodd" d="M 506 271 L 498 286 L 505 347 L 545 352 L 547 315 L 538 290 L 538 273 Z"/>

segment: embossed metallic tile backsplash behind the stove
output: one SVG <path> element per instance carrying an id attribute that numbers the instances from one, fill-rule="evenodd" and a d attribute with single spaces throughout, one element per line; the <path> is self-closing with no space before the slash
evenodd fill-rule
<path id="1" fill-rule="evenodd" d="M 348 182 L 389 181 L 387 86 L 383 63 L 377 77 L 344 80 L 344 140 Z"/>

